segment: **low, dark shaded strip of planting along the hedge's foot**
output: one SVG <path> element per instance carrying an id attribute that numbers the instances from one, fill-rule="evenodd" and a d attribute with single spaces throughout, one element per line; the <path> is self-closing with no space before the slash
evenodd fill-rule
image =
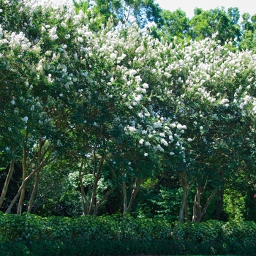
<path id="1" fill-rule="evenodd" d="M 114 255 L 255 255 L 255 246 L 236 241 L 192 243 L 185 241 L 69 241 L 47 240 L 0 243 L 1 256 L 114 256 Z"/>

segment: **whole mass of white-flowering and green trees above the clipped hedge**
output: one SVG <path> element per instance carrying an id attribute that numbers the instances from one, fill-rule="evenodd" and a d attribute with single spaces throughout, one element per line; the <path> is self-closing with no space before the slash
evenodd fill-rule
<path id="1" fill-rule="evenodd" d="M 255 36 L 238 8 L 0 0 L 1 211 L 255 221 Z"/>

